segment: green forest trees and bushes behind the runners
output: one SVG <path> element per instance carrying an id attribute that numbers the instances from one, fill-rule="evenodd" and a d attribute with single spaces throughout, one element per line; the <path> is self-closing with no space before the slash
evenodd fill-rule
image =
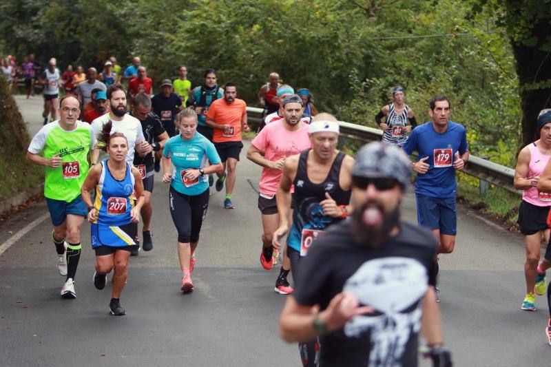
<path id="1" fill-rule="evenodd" d="M 533 140 L 537 110 L 549 105 L 549 5 L 4 0 L 0 51 L 20 63 L 30 53 L 41 65 L 56 57 L 61 70 L 68 64 L 101 70 L 109 56 L 124 68 L 138 55 L 156 85 L 175 78 L 178 65 L 187 65 L 194 85 L 215 67 L 219 81 L 235 82 L 249 105 L 258 104 L 260 85 L 275 71 L 295 88 L 308 87 L 318 110 L 373 127 L 396 85 L 405 87 L 418 123 L 429 120 L 430 98 L 445 94 L 451 119 L 467 128 L 472 154 L 514 167 L 519 147 Z"/>

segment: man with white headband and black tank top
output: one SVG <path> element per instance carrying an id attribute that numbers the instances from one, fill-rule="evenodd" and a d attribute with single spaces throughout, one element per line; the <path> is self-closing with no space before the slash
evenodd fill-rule
<path id="1" fill-rule="evenodd" d="M 316 115 L 310 124 L 312 147 L 287 158 L 283 166 L 280 186 L 275 195 L 280 227 L 273 233 L 273 245 L 280 247 L 280 240 L 289 232 L 291 187 L 294 185 L 293 224 L 287 238 L 287 255 L 291 259 L 295 282 L 300 276 L 302 258 L 311 245 L 315 246 L 315 238 L 351 212 L 349 202 L 354 158 L 336 149 L 339 133 L 339 123 L 334 116 L 325 113 Z M 304 366 L 316 365 L 320 350 L 317 339 L 300 344 L 299 350 Z"/>

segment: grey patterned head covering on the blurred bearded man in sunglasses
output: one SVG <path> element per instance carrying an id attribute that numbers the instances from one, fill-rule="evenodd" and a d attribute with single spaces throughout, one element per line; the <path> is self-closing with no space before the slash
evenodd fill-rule
<path id="1" fill-rule="evenodd" d="M 395 178 L 405 190 L 410 183 L 411 172 L 411 162 L 402 149 L 373 142 L 357 151 L 352 176 Z"/>

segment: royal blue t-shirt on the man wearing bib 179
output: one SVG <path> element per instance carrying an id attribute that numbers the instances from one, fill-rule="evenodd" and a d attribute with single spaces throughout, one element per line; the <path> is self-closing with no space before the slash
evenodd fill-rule
<path id="1" fill-rule="evenodd" d="M 419 152 L 419 159 L 428 157 L 426 174 L 417 174 L 415 192 L 433 198 L 453 198 L 457 182 L 452 167 L 455 152 L 463 155 L 468 151 L 465 127 L 448 121 L 446 132 L 438 133 L 433 123 L 416 127 L 402 146 L 407 154 Z"/>

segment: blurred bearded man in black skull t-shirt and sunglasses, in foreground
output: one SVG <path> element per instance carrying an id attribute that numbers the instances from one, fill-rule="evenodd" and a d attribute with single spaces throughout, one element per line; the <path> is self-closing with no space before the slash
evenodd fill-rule
<path id="1" fill-rule="evenodd" d="M 437 243 L 428 230 L 399 220 L 410 176 L 396 147 L 360 149 L 352 219 L 333 224 L 300 260 L 280 334 L 287 342 L 320 337 L 315 365 L 417 366 L 421 329 L 434 366 L 452 366 L 430 276 Z"/>

